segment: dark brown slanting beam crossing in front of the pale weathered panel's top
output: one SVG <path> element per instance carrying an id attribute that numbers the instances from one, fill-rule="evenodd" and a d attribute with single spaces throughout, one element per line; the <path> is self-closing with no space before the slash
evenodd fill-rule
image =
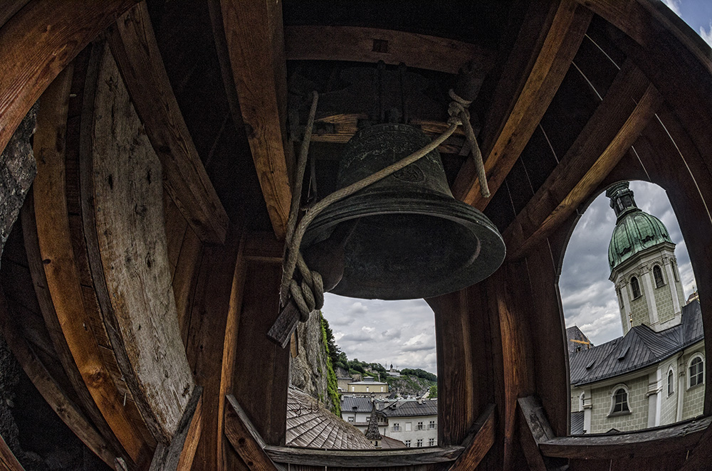
<path id="1" fill-rule="evenodd" d="M 228 216 L 173 95 L 145 1 L 109 31 L 111 51 L 161 161 L 166 190 L 201 240 L 224 243 Z"/>

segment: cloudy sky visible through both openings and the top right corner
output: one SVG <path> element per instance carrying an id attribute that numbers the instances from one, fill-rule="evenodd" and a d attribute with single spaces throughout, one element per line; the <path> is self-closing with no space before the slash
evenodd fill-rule
<path id="1" fill-rule="evenodd" d="M 664 3 L 712 46 L 712 0 Z M 688 296 L 694 275 L 665 192 L 642 182 L 632 182 L 631 189 L 639 208 L 657 216 L 677 244 L 675 254 Z M 622 335 L 613 283 L 608 280 L 608 242 L 615 226 L 608 201 L 599 196 L 580 219 L 559 282 L 566 325 L 578 325 L 594 344 Z M 337 344 L 350 359 L 437 373 L 434 314 L 424 300 L 356 300 L 327 293 L 322 310 Z"/>

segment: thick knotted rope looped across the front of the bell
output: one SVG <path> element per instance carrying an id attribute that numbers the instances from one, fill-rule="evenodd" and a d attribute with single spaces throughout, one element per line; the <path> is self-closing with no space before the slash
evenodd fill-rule
<path id="1" fill-rule="evenodd" d="M 379 180 L 384 179 L 390 174 L 394 174 L 400 169 L 404 168 L 426 156 L 434 149 L 436 149 L 440 144 L 442 144 L 447 138 L 449 138 L 457 129 L 459 125 L 464 125 L 466 137 L 470 143 L 473 154 L 475 156 L 475 165 L 478 170 L 478 179 L 480 180 L 480 186 L 482 195 L 485 197 L 489 196 L 489 190 L 487 188 L 487 181 L 484 172 L 484 166 L 482 164 L 482 155 L 480 153 L 477 141 L 475 138 L 475 133 L 470 125 L 470 114 L 467 107 L 471 102 L 463 100 L 461 97 L 457 96 L 455 92 L 450 90 L 450 96 L 453 99 L 449 106 L 449 119 L 448 119 L 448 129 L 445 130 L 438 137 L 433 139 L 429 144 L 427 144 L 422 149 L 413 152 L 407 157 L 399 160 L 398 162 L 391 164 L 384 169 L 377 171 L 375 174 L 367 176 L 365 179 L 361 179 L 349 186 L 345 186 L 342 189 L 334 191 L 329 196 L 318 201 L 312 208 L 308 209 L 304 214 L 301 221 L 297 225 L 297 218 L 299 216 L 299 202 L 302 193 L 302 181 L 304 178 L 304 171 L 306 169 L 307 155 L 309 152 L 309 144 L 311 140 L 312 129 L 314 126 L 314 117 L 316 115 L 316 105 L 318 102 L 319 95 L 317 92 L 313 92 L 313 102 L 309 112 L 309 119 L 307 122 L 307 127 L 304 133 L 304 140 L 302 142 L 302 147 L 300 149 L 300 154 L 297 161 L 296 176 L 294 190 L 292 192 L 292 202 L 290 207 L 289 219 L 287 222 L 286 229 L 286 243 L 285 251 L 286 256 L 284 258 L 284 263 L 282 266 L 282 283 L 280 287 L 280 300 L 282 305 L 286 305 L 288 301 L 288 294 L 292 296 L 295 304 L 299 309 L 300 321 L 305 322 L 309 319 L 309 314 L 315 309 L 321 309 L 324 305 L 324 283 L 321 275 L 313 270 L 309 270 L 302 254 L 300 253 L 299 247 L 302 242 L 302 238 L 306 233 L 309 224 L 324 211 L 328 206 L 337 201 L 347 198 L 355 194 L 357 191 L 364 189 L 365 187 L 376 183 Z M 299 269 L 299 273 L 302 277 L 302 281 L 298 283 L 294 279 L 295 269 Z"/>

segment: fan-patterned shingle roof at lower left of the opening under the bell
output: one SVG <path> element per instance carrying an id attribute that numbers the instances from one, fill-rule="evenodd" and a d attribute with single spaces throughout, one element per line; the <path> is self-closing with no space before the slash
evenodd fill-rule
<path id="1" fill-rule="evenodd" d="M 287 393 L 286 444 L 335 450 L 374 448 L 359 429 L 327 411 L 315 398 L 295 388 L 289 388 Z"/>

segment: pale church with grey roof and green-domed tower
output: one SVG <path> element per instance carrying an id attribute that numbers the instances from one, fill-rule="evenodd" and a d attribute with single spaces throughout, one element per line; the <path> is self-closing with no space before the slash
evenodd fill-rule
<path id="1" fill-rule="evenodd" d="M 705 352 L 696 297 L 685 304 L 675 244 L 640 210 L 628 182 L 606 196 L 616 213 L 608 248 L 623 337 L 593 346 L 566 329 L 571 433 L 627 432 L 703 413 Z"/>

